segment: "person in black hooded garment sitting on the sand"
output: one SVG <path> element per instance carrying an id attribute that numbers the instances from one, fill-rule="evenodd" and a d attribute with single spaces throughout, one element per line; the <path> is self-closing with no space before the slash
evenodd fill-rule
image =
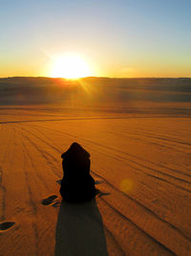
<path id="1" fill-rule="evenodd" d="M 90 153 L 74 142 L 61 157 L 64 172 L 60 188 L 62 198 L 71 202 L 94 198 L 96 187 L 90 175 Z"/>

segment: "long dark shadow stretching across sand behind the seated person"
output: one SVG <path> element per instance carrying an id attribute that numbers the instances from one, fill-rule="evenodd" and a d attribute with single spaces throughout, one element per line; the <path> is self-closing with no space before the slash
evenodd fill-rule
<path id="1" fill-rule="evenodd" d="M 81 204 L 62 201 L 55 234 L 55 256 L 61 255 L 108 256 L 96 199 Z"/>

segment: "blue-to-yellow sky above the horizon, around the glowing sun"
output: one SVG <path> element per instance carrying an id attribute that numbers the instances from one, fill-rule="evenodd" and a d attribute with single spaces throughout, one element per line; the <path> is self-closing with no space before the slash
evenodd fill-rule
<path id="1" fill-rule="evenodd" d="M 190 0 L 0 0 L 0 77 L 50 77 L 65 53 L 91 76 L 191 77 L 190 13 Z"/>

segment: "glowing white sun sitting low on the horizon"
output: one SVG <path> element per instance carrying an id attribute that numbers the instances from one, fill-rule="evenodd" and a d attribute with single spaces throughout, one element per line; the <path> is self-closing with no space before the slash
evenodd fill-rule
<path id="1" fill-rule="evenodd" d="M 79 79 L 89 76 L 90 68 L 83 58 L 74 54 L 54 58 L 53 78 Z"/>

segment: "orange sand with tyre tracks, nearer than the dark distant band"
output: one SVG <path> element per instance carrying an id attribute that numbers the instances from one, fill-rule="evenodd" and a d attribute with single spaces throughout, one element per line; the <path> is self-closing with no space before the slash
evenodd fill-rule
<path id="1" fill-rule="evenodd" d="M 10 111 L 0 120 L 0 255 L 191 255 L 190 118 Z M 100 190 L 79 205 L 59 196 L 60 155 L 74 141 L 91 153 Z"/>

